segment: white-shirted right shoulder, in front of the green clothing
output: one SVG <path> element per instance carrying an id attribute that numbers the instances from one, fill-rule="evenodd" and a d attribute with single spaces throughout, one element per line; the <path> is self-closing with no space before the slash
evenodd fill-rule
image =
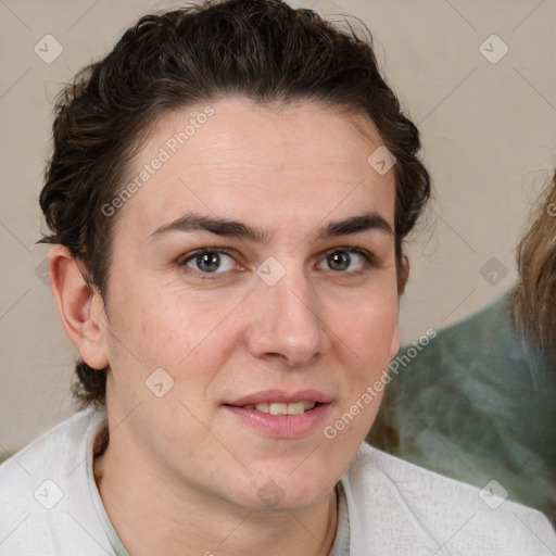
<path id="1" fill-rule="evenodd" d="M 352 539 L 365 549 L 369 543 L 390 546 L 386 554 L 438 556 L 541 556 L 556 549 L 546 517 L 506 500 L 495 482 L 480 490 L 362 444 L 342 483 Z"/>

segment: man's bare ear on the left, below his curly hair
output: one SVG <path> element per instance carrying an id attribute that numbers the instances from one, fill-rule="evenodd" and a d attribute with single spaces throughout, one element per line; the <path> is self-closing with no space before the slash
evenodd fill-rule
<path id="1" fill-rule="evenodd" d="M 65 333 L 92 368 L 108 367 L 104 305 L 97 288 L 88 286 L 67 248 L 54 245 L 48 256 L 48 274 Z"/>

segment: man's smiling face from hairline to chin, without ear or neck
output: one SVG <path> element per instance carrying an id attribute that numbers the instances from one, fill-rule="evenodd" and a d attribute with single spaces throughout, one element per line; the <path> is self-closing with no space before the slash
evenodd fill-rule
<path id="1" fill-rule="evenodd" d="M 227 99 L 166 114 L 132 162 L 108 216 L 108 407 L 166 484 L 291 510 L 349 467 L 399 346 L 380 144 L 329 108 Z"/>

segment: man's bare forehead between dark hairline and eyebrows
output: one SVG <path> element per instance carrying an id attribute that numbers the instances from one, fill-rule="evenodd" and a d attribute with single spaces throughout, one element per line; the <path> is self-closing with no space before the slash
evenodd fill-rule
<path id="1" fill-rule="evenodd" d="M 376 210 L 393 227 L 394 173 L 368 157 L 381 144 L 369 118 L 314 102 L 244 99 L 162 116 L 130 163 L 136 184 L 119 223 L 146 236 L 194 211 L 280 229 Z M 301 231 L 301 229 L 299 229 Z"/>

